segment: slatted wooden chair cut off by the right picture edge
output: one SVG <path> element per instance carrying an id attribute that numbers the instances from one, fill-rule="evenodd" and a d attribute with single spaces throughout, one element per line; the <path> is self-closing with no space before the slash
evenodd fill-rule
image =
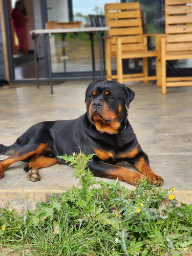
<path id="1" fill-rule="evenodd" d="M 166 61 L 192 59 L 192 0 L 165 0 L 165 35 L 161 37 L 162 94 L 167 87 L 192 86 L 192 77 L 167 77 Z"/>

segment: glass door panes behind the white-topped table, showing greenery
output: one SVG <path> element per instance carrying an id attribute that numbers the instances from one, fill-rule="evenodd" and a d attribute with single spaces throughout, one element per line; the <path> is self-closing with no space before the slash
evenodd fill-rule
<path id="1" fill-rule="evenodd" d="M 81 22 L 82 27 L 92 26 L 90 14 L 104 15 L 104 4 L 84 0 L 47 0 L 48 22 Z M 116 3 L 116 0 L 112 0 Z M 92 78 L 90 36 L 86 32 L 54 34 L 50 38 L 53 77 Z M 94 35 L 95 77 L 100 78 L 99 37 Z M 103 65 L 104 66 L 104 65 Z"/>

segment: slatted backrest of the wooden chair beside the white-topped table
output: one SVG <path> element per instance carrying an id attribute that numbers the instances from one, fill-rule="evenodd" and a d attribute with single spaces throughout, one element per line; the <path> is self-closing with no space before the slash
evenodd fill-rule
<path id="1" fill-rule="evenodd" d="M 140 3 L 105 4 L 105 24 L 108 36 L 122 38 L 122 51 L 144 50 Z M 111 51 L 116 51 L 116 40 L 111 39 Z"/>

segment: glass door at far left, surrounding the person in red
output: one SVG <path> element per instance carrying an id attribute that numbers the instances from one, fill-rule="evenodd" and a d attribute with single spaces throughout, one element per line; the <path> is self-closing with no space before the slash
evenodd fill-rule
<path id="1" fill-rule="evenodd" d="M 41 12 L 39 0 L 23 0 L 23 5 L 27 11 L 27 18 L 24 27 L 24 40 L 23 40 L 23 52 L 19 52 L 19 40 L 14 27 L 14 20 L 11 18 L 11 13 L 15 9 L 17 0 L 9 0 L 6 7 L 6 16 L 9 19 L 7 23 L 7 30 L 10 31 L 8 35 L 12 54 L 10 56 L 10 63 L 12 64 L 11 80 L 28 80 L 35 79 L 35 67 L 34 67 L 34 44 L 29 34 L 30 30 L 41 29 Z M 45 61 L 44 61 L 44 42 L 42 36 L 37 39 L 38 47 L 38 65 L 39 76 L 46 77 Z"/>

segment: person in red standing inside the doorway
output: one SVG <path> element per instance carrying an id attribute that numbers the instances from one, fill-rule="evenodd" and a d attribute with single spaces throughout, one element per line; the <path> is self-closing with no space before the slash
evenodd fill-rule
<path id="1" fill-rule="evenodd" d="M 13 27 L 18 38 L 18 54 L 25 54 L 24 51 L 24 29 L 28 22 L 28 13 L 22 1 L 15 2 L 15 7 L 11 12 Z"/>

